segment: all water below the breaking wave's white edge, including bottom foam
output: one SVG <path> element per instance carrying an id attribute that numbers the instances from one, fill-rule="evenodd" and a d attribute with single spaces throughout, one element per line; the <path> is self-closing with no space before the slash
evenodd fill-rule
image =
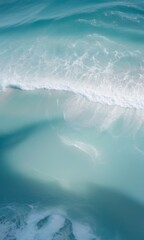
<path id="1" fill-rule="evenodd" d="M 2 239 L 143 239 L 143 126 L 121 117 L 103 128 L 85 101 L 1 94 Z"/>

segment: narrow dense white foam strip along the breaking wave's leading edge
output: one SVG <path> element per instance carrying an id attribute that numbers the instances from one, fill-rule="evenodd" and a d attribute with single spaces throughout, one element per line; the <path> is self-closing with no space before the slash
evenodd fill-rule
<path id="1" fill-rule="evenodd" d="M 109 106 L 118 106 L 122 108 L 130 108 L 137 110 L 144 110 L 144 91 L 143 89 L 139 91 L 132 90 L 128 92 L 125 89 L 111 88 L 111 86 L 89 86 L 85 84 L 72 84 L 71 82 L 66 84 L 56 82 L 55 84 L 11 84 L 13 87 L 18 87 L 22 90 L 57 90 L 57 91 L 67 91 L 74 94 L 81 95 L 85 97 L 90 102 L 100 103 Z M 8 88 L 9 85 L 3 86 L 3 89 Z"/>

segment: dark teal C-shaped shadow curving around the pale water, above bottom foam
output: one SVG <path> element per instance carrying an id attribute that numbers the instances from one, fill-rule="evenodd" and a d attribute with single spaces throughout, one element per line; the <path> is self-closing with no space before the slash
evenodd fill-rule
<path id="1" fill-rule="evenodd" d="M 60 119 L 55 120 L 57 123 Z M 53 122 L 54 123 L 54 122 Z M 62 207 L 76 219 L 91 224 L 107 239 L 118 234 L 124 240 L 144 239 L 144 206 L 112 189 L 89 184 L 86 192 L 74 193 L 56 182 L 42 183 L 6 169 L 6 153 L 35 131 L 50 127 L 45 121 L 0 136 L 0 204 L 38 204 Z M 99 229 L 99 230 L 97 230 Z"/>

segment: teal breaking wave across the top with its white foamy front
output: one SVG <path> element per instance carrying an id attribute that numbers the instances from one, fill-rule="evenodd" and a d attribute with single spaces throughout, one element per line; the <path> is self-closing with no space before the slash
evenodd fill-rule
<path id="1" fill-rule="evenodd" d="M 69 91 L 144 109 L 143 1 L 7 1 L 1 9 L 1 90 Z"/>

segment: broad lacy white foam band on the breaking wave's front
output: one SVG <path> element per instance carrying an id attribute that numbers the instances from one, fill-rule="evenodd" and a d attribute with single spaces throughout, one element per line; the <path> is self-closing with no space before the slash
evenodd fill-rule
<path id="1" fill-rule="evenodd" d="M 42 41 L 43 44 L 40 44 Z M 51 89 L 72 92 L 88 101 L 144 109 L 144 59 L 138 49 L 92 34 L 81 39 L 47 37 L 12 43 L 0 61 L 1 89 Z M 51 49 L 46 46 L 50 45 Z M 15 50 L 13 51 L 13 48 Z M 54 49 L 59 54 L 54 53 Z"/>

